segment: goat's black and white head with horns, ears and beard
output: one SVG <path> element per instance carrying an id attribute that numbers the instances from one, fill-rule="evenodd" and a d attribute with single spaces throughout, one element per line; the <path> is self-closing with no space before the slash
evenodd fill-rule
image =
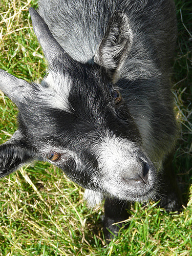
<path id="1" fill-rule="evenodd" d="M 0 72 L 1 89 L 19 110 L 18 131 L 1 145 L 0 177 L 44 160 L 87 188 L 90 205 L 103 196 L 130 201 L 153 197 L 155 167 L 112 83 L 131 45 L 129 25 L 122 26 L 126 17 L 115 14 L 94 61 L 80 63 L 61 48 L 38 13 L 31 8 L 30 12 L 50 71 L 40 85 Z M 119 40 L 112 42 L 120 26 Z"/>

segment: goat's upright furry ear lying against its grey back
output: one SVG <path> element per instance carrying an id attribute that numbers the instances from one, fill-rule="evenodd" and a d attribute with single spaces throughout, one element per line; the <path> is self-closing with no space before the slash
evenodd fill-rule
<path id="1" fill-rule="evenodd" d="M 124 13 L 116 12 L 100 42 L 94 61 L 104 67 L 115 80 L 121 63 L 127 56 L 133 41 L 129 20 Z"/>

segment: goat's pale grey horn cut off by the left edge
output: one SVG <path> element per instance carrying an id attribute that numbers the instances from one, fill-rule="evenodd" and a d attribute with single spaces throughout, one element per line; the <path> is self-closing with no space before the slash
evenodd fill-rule
<path id="1" fill-rule="evenodd" d="M 5 93 L 16 105 L 27 101 L 30 84 L 23 79 L 16 78 L 0 69 L 0 90 Z"/>

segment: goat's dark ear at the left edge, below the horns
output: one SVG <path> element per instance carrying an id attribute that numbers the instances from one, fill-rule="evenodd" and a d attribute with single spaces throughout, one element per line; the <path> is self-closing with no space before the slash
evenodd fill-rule
<path id="1" fill-rule="evenodd" d="M 35 153 L 26 146 L 19 131 L 15 132 L 10 140 L 0 146 L 0 178 L 13 173 L 35 158 Z"/>

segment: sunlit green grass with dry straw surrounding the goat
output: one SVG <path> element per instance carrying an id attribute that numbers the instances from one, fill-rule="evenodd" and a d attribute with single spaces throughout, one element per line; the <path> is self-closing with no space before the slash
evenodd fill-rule
<path id="1" fill-rule="evenodd" d="M 37 1 L 0 0 L 0 68 L 27 81 L 41 80 L 46 63 L 28 8 Z M 168 214 L 153 202 L 136 203 L 126 229 L 106 244 L 102 206 L 88 209 L 83 189 L 48 163 L 27 166 L 0 181 L 0 256 L 192 255 L 192 118 L 190 0 L 176 1 L 178 47 L 173 93 L 181 134 L 174 158 L 183 210 Z M 0 94 L 0 143 L 16 130 L 17 109 Z"/>

